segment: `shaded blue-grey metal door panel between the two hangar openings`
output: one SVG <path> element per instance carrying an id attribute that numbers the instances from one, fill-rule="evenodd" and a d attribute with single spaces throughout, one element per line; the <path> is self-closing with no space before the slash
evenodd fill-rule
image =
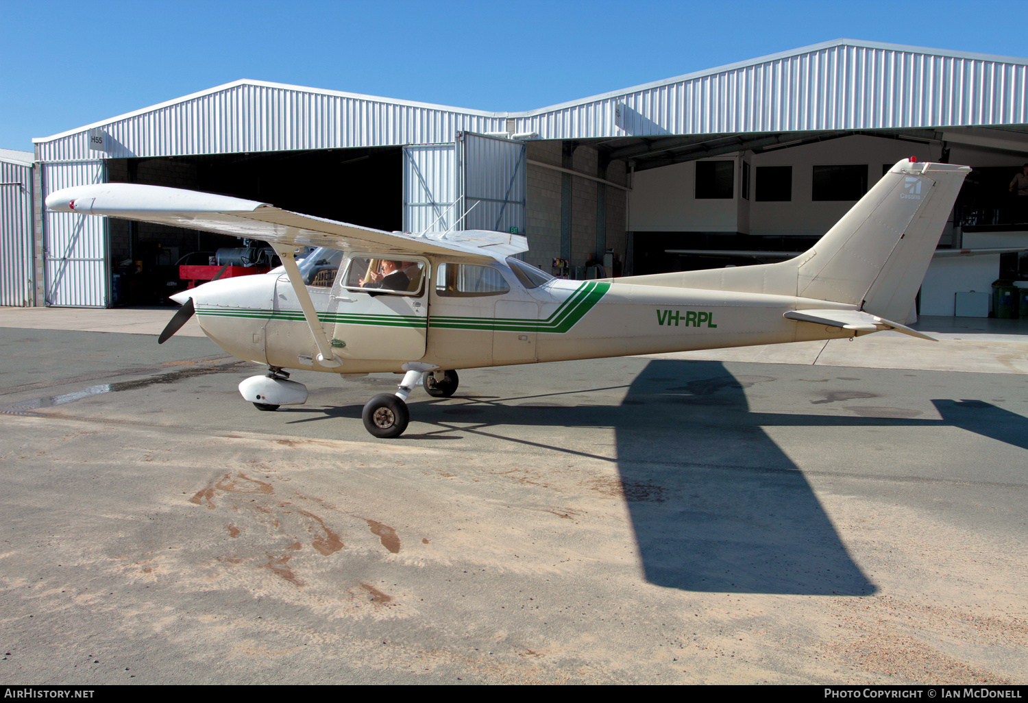
<path id="1" fill-rule="evenodd" d="M 524 142 L 465 133 L 458 136 L 457 146 L 464 212 L 468 213 L 462 229 L 524 233 Z"/>

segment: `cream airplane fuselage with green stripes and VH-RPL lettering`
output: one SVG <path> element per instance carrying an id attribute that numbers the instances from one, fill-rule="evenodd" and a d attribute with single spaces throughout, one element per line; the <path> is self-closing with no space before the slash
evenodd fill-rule
<path id="1" fill-rule="evenodd" d="M 431 271 L 443 261 L 427 257 Z M 598 359 L 852 336 L 782 314 L 825 307 L 796 296 L 554 280 L 510 285 L 501 295 L 452 298 L 427 285 L 415 295 L 308 287 L 342 366 L 324 368 L 285 274 L 207 284 L 191 295 L 204 332 L 229 354 L 287 369 L 398 372 L 404 363 L 444 369 Z M 338 282 L 337 282 L 338 283 Z M 839 309 L 855 309 L 838 303 Z"/>

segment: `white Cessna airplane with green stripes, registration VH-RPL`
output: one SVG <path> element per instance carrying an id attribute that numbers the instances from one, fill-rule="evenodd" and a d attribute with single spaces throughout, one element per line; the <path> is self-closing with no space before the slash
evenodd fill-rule
<path id="1" fill-rule="evenodd" d="M 56 212 L 103 215 L 267 242 L 283 268 L 213 281 L 193 312 L 229 354 L 267 364 L 240 384 L 260 410 L 306 402 L 286 369 L 342 376 L 405 372 L 364 406 L 375 437 L 407 428 L 423 383 L 449 397 L 457 369 L 836 339 L 905 327 L 970 169 L 896 163 L 809 251 L 788 261 L 600 281 L 561 281 L 516 258 L 523 236 L 386 232 L 177 188 L 108 183 L 51 193 Z M 319 247 L 299 263 L 299 247 Z M 283 272 L 284 270 L 284 272 Z M 900 321 L 900 322 L 896 322 Z"/>

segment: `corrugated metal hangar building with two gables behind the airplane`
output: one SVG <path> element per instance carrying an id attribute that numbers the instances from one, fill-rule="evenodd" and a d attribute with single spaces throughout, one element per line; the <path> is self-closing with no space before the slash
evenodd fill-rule
<path id="1" fill-rule="evenodd" d="M 43 212 L 48 193 L 98 182 L 386 230 L 517 231 L 529 263 L 567 260 L 563 272 L 585 278 L 603 273 L 589 264 L 620 275 L 805 250 L 914 155 L 975 169 L 942 249 L 1028 247 L 1026 209 L 1006 189 L 1028 161 L 1028 60 L 849 39 L 526 112 L 238 80 L 33 141 L 31 217 L 15 222 L 3 200 L 32 290 L 2 304 L 159 302 L 180 261 L 237 246 Z M 1001 266 L 1028 278 L 1024 263 L 937 257 L 921 311 L 953 314 L 954 290 Z"/>

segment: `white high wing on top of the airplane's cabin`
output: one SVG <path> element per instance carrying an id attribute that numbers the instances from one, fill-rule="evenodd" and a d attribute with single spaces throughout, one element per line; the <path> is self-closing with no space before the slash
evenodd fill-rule
<path id="1" fill-rule="evenodd" d="M 387 232 L 292 213 L 257 200 L 135 183 L 64 188 L 47 195 L 46 207 L 61 213 L 106 215 L 296 246 L 501 260 L 528 251 L 527 240 L 519 234 L 478 229 L 445 235 Z"/>

